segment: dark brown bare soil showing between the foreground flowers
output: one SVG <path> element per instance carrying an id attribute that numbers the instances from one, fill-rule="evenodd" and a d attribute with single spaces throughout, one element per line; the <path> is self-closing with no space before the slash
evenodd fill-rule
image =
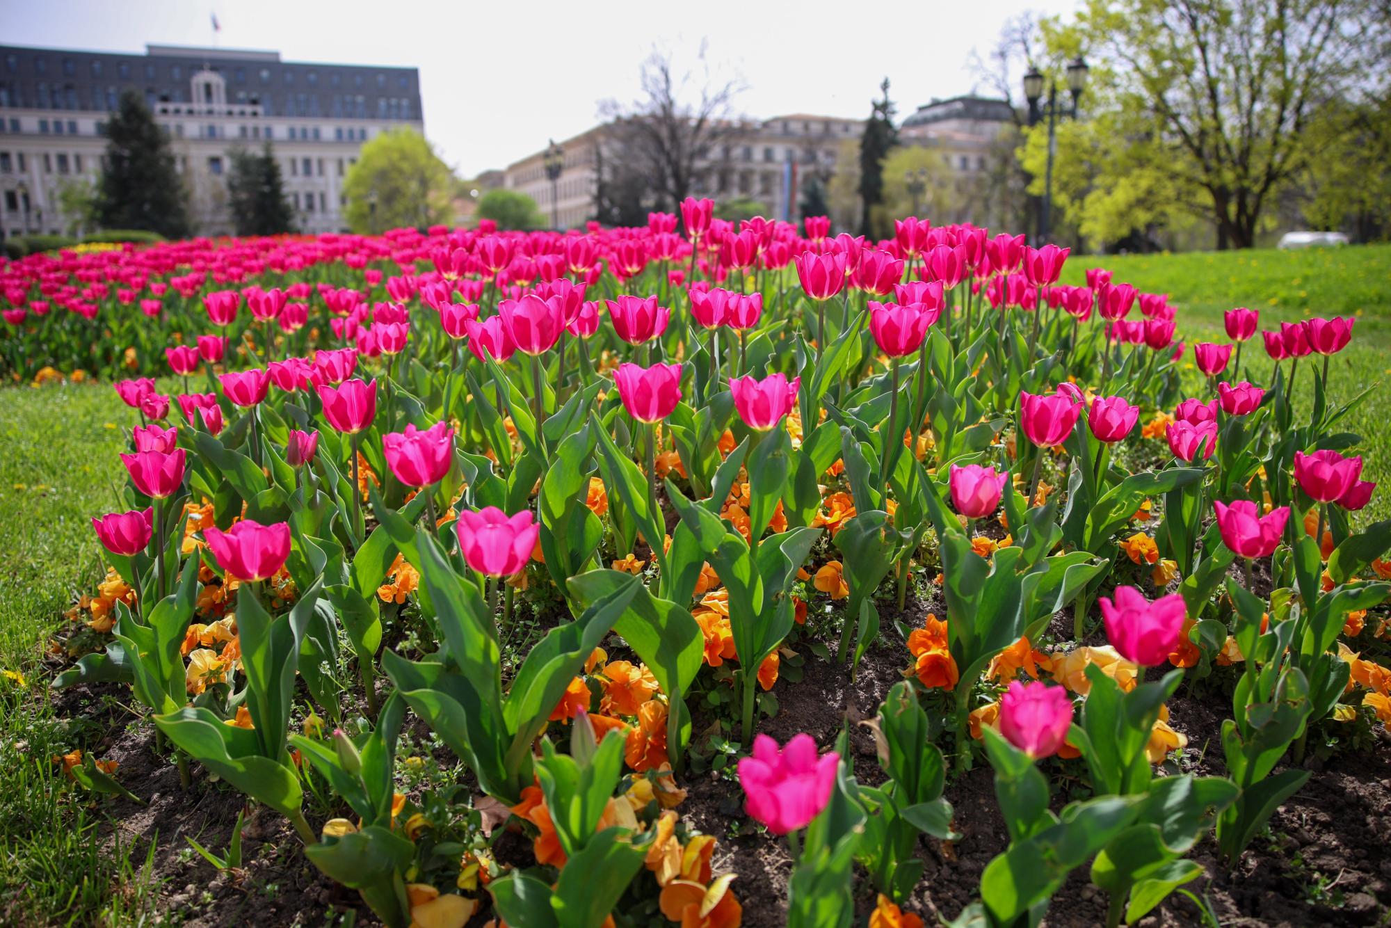
<path id="1" fill-rule="evenodd" d="M 912 604 L 897 616 L 907 626 L 921 623 L 932 604 Z M 936 609 L 940 614 L 940 608 Z M 812 735 L 822 749 L 830 749 L 843 728 L 850 735 L 850 755 L 861 783 L 883 779 L 875 757 L 872 732 L 861 722 L 874 717 L 889 687 L 903 679 L 910 664 L 907 648 L 894 630 L 896 616 L 883 616 L 879 641 L 861 661 L 855 679 L 847 669 L 807 654 L 800 682 L 780 680 L 773 693 L 776 717 L 762 719 L 759 730 L 779 742 L 798 732 Z M 1071 625 L 1070 616 L 1059 622 Z M 1221 774 L 1220 725 L 1230 715 L 1230 698 L 1207 682 L 1198 696 L 1188 687 L 1170 700 L 1173 726 L 1189 739 L 1181 767 L 1189 772 Z M 163 883 L 160 909 L 191 925 L 321 925 L 337 924 L 349 914 L 359 925 L 377 920 L 357 895 L 321 877 L 299 853 L 294 831 L 274 813 L 257 810 L 243 832 L 243 867 L 217 872 L 188 847 L 192 836 L 221 853 L 231 838 L 239 793 L 214 783 L 193 765 L 191 790 L 179 787 L 178 771 L 154 751 L 150 728 L 135 723 L 122 707 L 124 687 L 74 687 L 56 694 L 61 715 L 82 718 L 106 740 L 95 744 L 99 757 L 120 761 L 120 781 L 142 801 L 111 799 L 104 806 L 122 842 L 135 842 L 136 860 L 143 860 L 149 842 L 156 842 L 153 875 Z M 696 730 L 709 719 L 697 712 Z M 1191 857 L 1206 875 L 1189 885 L 1206 897 L 1224 925 L 1376 925 L 1391 918 L 1391 760 L 1385 736 L 1378 750 L 1344 753 L 1327 762 L 1309 761 L 1313 776 L 1285 803 L 1270 822 L 1269 835 L 1257 836 L 1237 871 L 1219 860 L 1214 843 L 1200 843 Z M 950 735 L 946 736 L 950 740 Z M 950 744 L 946 744 L 950 749 Z M 1054 789 L 1085 781 L 1081 761 L 1047 761 Z M 693 776 L 684 783 L 689 799 L 682 807 L 696 829 L 715 835 L 719 849 L 718 872 L 733 871 L 744 904 L 744 925 L 764 928 L 785 922 L 785 899 L 790 857 L 786 845 L 762 832 L 743 814 L 743 797 L 730 768 L 726 774 Z M 951 843 L 922 839 L 918 856 L 924 878 L 904 909 L 936 918 L 954 918 L 976 897 L 985 865 L 1007 846 L 989 765 L 975 768 L 947 783 L 946 797 L 956 810 L 961 838 Z M 1066 796 L 1056 796 L 1056 804 Z M 310 814 L 312 825 L 317 826 Z M 498 847 L 499 857 L 517 863 L 530 857 L 520 836 L 516 847 Z M 520 843 L 519 843 L 520 842 Z M 508 851 L 508 853 L 504 853 Z M 864 924 L 874 907 L 875 892 L 864 874 L 857 874 L 857 924 Z M 1106 897 L 1088 882 L 1079 868 L 1056 896 L 1049 925 L 1096 925 L 1106 917 Z M 474 922 L 480 922 L 480 917 Z M 1196 906 L 1174 895 L 1143 925 L 1193 925 L 1200 922 Z"/>

